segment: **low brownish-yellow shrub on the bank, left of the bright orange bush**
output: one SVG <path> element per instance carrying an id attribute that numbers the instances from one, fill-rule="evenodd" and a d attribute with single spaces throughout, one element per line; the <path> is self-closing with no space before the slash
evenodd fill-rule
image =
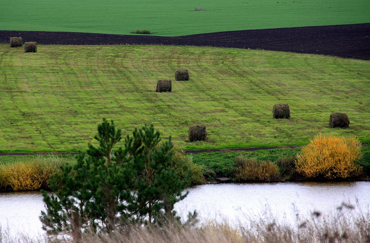
<path id="1" fill-rule="evenodd" d="M 270 182 L 279 179 L 279 167 L 269 160 L 236 158 L 235 180 L 245 182 Z"/>

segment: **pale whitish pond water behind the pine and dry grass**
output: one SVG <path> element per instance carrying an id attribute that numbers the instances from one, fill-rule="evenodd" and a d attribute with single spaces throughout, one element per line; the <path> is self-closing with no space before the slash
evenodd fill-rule
<path id="1" fill-rule="evenodd" d="M 186 217 L 197 210 L 201 222 L 225 220 L 231 224 L 264 217 L 266 210 L 278 219 L 294 220 L 310 212 L 333 214 L 342 202 L 356 204 L 367 212 L 370 182 L 279 182 L 222 183 L 189 188 L 188 196 L 175 205 Z M 32 239 L 42 235 L 38 219 L 44 204 L 40 192 L 0 193 L 0 225 L 11 235 L 24 234 Z M 297 211 L 296 211 L 296 210 Z"/>

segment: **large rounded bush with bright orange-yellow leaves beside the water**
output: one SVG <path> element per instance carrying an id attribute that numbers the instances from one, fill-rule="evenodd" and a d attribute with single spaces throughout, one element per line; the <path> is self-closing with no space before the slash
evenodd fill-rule
<path id="1" fill-rule="evenodd" d="M 361 156 L 361 144 L 356 138 L 335 136 L 314 137 L 297 154 L 296 170 L 306 178 L 350 179 L 362 174 L 354 163 Z"/>

